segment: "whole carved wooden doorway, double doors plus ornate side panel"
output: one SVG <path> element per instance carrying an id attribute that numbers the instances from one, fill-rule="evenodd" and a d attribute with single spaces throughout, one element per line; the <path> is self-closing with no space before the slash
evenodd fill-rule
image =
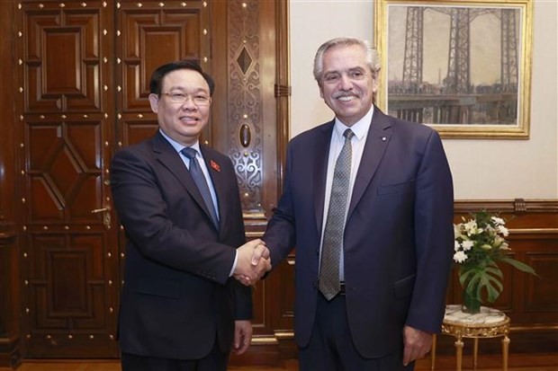
<path id="1" fill-rule="evenodd" d="M 112 210 L 112 154 L 157 129 L 148 105 L 153 69 L 175 59 L 200 62 L 218 85 L 202 140 L 236 163 L 248 230 L 256 234 L 276 199 L 275 101 L 288 95 L 275 83 L 276 4 L 14 6 L 23 357 L 118 357 L 125 236 Z M 257 321 L 269 333 L 265 300 L 257 298 Z"/>

